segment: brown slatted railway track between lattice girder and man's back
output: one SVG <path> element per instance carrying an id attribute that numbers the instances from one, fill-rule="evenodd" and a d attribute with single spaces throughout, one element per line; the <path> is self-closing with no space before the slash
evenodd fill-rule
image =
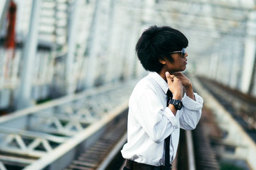
<path id="1" fill-rule="evenodd" d="M 127 110 L 106 127 L 106 131 L 87 150 L 72 161 L 66 170 L 106 169 L 127 139 Z M 121 139 L 121 140 L 120 140 Z M 118 145 L 120 143 L 120 145 Z M 116 147 L 116 149 L 114 149 Z M 111 151 L 113 156 L 110 155 Z"/>

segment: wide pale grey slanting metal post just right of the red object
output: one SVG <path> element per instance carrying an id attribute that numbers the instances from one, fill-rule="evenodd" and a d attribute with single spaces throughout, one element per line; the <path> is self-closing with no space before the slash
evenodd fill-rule
<path id="1" fill-rule="evenodd" d="M 17 109 L 26 108 L 32 105 L 31 88 L 33 83 L 33 61 L 36 56 L 38 43 L 38 24 L 40 20 L 40 3 L 41 0 L 34 0 L 31 10 L 29 31 L 25 41 L 22 58 L 22 74 L 19 87 L 19 95 L 16 96 Z"/>

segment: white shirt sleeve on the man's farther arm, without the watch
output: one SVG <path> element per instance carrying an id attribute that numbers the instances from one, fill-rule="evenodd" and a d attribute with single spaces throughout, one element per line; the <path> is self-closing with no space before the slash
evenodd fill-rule
<path id="1" fill-rule="evenodd" d="M 185 130 L 195 129 L 202 115 L 204 99 L 196 93 L 194 95 L 195 101 L 186 94 L 182 98 L 183 107 L 179 114 L 180 128 Z"/>

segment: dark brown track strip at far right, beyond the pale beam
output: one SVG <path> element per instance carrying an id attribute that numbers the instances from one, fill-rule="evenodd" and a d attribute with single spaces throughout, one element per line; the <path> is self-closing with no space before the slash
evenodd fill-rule
<path id="1" fill-rule="evenodd" d="M 200 82 L 256 142 L 256 99 L 207 78 Z"/>

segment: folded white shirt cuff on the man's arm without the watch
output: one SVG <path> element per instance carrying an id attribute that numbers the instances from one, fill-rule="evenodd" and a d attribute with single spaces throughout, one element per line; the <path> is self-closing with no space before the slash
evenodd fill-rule
<path id="1" fill-rule="evenodd" d="M 182 98 L 182 104 L 188 110 L 201 110 L 203 107 L 204 99 L 196 93 L 194 93 L 194 95 L 195 101 L 188 97 L 185 93 L 184 97 Z"/>

